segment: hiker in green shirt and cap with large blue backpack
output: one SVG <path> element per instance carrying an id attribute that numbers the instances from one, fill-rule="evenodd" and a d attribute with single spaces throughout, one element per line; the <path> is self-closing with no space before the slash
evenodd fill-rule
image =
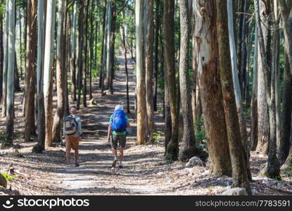
<path id="1" fill-rule="evenodd" d="M 119 168 L 122 168 L 122 160 L 124 159 L 124 148 L 126 147 L 127 141 L 127 127 L 130 127 L 129 119 L 125 112 L 123 111 L 123 107 L 121 105 L 115 106 L 115 111 L 113 115 L 110 116 L 110 122 L 108 125 L 108 143 L 113 150 L 113 165 L 112 169 L 115 168 L 117 165 L 118 158 L 117 158 L 117 148 L 119 144 L 119 151 L 120 151 L 120 163 Z M 110 141 L 110 134 L 112 135 L 112 139 Z"/>

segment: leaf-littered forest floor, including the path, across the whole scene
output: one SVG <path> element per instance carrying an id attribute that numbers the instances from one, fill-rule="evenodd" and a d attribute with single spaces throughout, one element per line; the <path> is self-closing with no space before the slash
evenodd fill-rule
<path id="1" fill-rule="evenodd" d="M 114 80 L 114 95 L 107 94 L 101 98 L 95 84 L 97 106 L 81 108 L 79 111 L 84 128 L 80 143 L 80 167 L 73 166 L 72 153 L 72 165 L 65 164 L 65 147 L 61 145 L 46 148 L 43 154 L 32 153 L 36 140 L 29 143 L 23 141 L 22 94 L 16 95 L 16 137 L 13 148 L 0 151 L 0 172 L 12 169 L 17 177 L 8 184 L 11 190 L 0 188 L 0 195 L 220 195 L 230 188 L 230 177 L 210 177 L 208 167 L 185 168 L 183 162 L 167 162 L 164 158 L 163 137 L 155 144 L 135 144 L 135 77 L 131 59 L 128 60 L 128 68 L 132 111 L 129 120 L 132 127 L 127 137 L 125 167 L 111 170 L 113 155 L 106 140 L 108 121 L 115 105 L 125 105 L 126 102 L 124 60 L 122 56 L 118 56 L 117 60 L 120 70 L 117 70 Z M 162 114 L 155 112 L 156 131 L 163 132 L 163 125 Z M 0 119 L 0 129 L 5 129 L 5 118 Z M 17 157 L 15 150 L 23 155 L 22 158 Z M 292 195 L 291 173 L 283 172 L 283 181 L 258 176 L 266 160 L 266 155 L 251 153 L 250 167 L 254 181 L 250 185 L 253 194 Z"/>

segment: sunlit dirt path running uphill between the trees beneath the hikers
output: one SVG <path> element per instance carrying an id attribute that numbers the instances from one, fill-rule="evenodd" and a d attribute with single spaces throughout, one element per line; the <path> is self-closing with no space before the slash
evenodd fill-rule
<path id="1" fill-rule="evenodd" d="M 120 55 L 123 55 L 120 52 Z M 54 182 L 60 184 L 56 194 L 87 195 L 87 194 L 158 194 L 158 186 L 151 185 L 155 180 L 152 168 L 147 165 L 153 162 L 164 162 L 163 153 L 155 146 L 135 146 L 136 124 L 133 114 L 129 115 L 132 127 L 128 130 L 127 149 L 123 169 L 111 170 L 113 155 L 107 142 L 107 129 L 110 115 L 117 104 L 124 105 L 126 110 L 126 79 L 123 56 L 116 58 L 120 70 L 115 73 L 113 82 L 114 95 L 101 98 L 100 92 L 94 96 L 98 106 L 82 108 L 83 137 L 80 143 L 80 167 L 62 165 L 54 173 Z M 134 110 L 134 63 L 128 60 L 130 109 Z M 71 153 L 71 163 L 73 164 Z"/>

